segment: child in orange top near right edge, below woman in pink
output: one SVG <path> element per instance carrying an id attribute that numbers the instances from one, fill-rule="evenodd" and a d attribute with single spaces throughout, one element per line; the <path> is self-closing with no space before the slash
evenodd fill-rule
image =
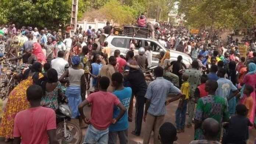
<path id="1" fill-rule="evenodd" d="M 252 106 L 253 106 L 253 98 L 251 96 L 251 93 L 253 92 L 253 87 L 250 85 L 245 85 L 245 89 L 243 90 L 243 94 L 246 95 L 245 100 L 243 101 L 243 104 L 246 106 L 248 113 L 247 118 L 250 119 L 250 114 L 252 112 Z"/>

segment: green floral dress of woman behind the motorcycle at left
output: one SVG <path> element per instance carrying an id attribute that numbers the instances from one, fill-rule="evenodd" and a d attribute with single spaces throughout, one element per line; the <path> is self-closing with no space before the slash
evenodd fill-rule
<path id="1" fill-rule="evenodd" d="M 61 88 L 61 83 L 58 82 L 53 91 L 45 91 L 45 96 L 42 97 L 41 105 L 56 111 L 58 109 L 58 96 L 63 96 Z"/>

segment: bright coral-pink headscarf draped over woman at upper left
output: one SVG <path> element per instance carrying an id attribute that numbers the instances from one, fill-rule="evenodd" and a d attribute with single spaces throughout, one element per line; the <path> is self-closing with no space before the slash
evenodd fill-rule
<path id="1" fill-rule="evenodd" d="M 32 54 L 34 54 L 42 65 L 46 63 L 45 54 L 42 51 L 42 47 L 39 43 L 33 43 Z"/>

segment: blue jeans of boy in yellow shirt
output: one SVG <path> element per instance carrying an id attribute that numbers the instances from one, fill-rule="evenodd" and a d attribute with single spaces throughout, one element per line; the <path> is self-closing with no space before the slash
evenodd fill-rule
<path id="1" fill-rule="evenodd" d="M 176 123 L 177 130 L 182 130 L 185 128 L 187 104 L 188 104 L 188 100 L 184 100 L 181 107 L 180 108 L 178 107 L 175 112 L 175 117 L 176 117 L 175 123 Z"/>

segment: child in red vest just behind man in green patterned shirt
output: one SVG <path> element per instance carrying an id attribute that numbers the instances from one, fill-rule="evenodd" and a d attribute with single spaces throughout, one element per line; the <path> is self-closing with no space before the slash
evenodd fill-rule
<path id="1" fill-rule="evenodd" d="M 208 96 L 208 92 L 205 91 L 205 83 L 208 80 L 208 76 L 207 75 L 202 75 L 200 82 L 201 84 L 196 88 L 194 96 L 196 98 L 196 101 L 201 98 L 201 97 L 206 97 Z"/>

